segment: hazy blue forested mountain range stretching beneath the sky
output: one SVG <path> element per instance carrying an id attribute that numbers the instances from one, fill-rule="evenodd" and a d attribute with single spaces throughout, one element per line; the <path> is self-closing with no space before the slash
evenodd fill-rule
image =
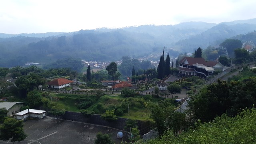
<path id="1" fill-rule="evenodd" d="M 69 33 L 20 34 L 0 38 L 0 66 L 24 65 L 27 61 L 55 62 L 74 57 L 88 61 L 114 61 L 123 56 L 138 58 L 162 52 L 165 46 L 174 56 L 177 53 L 194 52 L 201 46 L 218 45 L 224 39 L 253 32 L 256 23 L 209 24 L 185 22 L 167 26 L 131 26 L 126 28 L 80 30 Z M 4 34 L 0 34 L 0 37 Z M 48 37 L 44 37 L 48 36 Z M 214 45 L 212 45 L 214 46 Z"/>

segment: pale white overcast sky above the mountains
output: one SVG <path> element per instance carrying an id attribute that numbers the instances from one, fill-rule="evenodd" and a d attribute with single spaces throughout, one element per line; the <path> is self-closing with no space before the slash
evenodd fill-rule
<path id="1" fill-rule="evenodd" d="M 256 18 L 256 0 L 0 0 L 0 33 L 230 22 Z"/>

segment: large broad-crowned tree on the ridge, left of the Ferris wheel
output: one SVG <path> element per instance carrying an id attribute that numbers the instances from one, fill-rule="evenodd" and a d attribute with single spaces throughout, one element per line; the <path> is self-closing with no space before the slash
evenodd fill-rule
<path id="1" fill-rule="evenodd" d="M 242 48 L 242 42 L 236 39 L 227 39 L 220 44 L 221 47 L 226 48 L 230 56 L 234 55 L 234 49 Z"/>

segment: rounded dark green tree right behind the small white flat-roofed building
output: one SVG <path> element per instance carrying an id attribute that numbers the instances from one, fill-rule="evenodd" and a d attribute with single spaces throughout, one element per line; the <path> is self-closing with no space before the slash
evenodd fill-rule
<path id="1" fill-rule="evenodd" d="M 27 94 L 27 102 L 30 108 L 37 108 L 42 105 L 42 96 L 37 90 L 32 90 Z"/>

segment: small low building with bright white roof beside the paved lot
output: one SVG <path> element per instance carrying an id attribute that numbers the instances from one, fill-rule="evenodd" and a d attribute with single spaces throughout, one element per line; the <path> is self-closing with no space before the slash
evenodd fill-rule
<path id="1" fill-rule="evenodd" d="M 15 114 L 15 116 L 18 120 L 24 120 L 26 118 L 42 119 L 44 118 L 44 116 L 46 116 L 46 112 L 47 111 L 45 110 L 26 109 L 18 112 L 17 114 Z"/>

